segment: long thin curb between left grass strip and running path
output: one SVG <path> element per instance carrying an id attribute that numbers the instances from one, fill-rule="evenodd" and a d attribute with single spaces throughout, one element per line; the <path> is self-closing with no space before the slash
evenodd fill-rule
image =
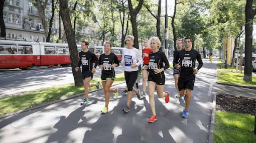
<path id="1" fill-rule="evenodd" d="M 119 85 L 119 84 L 122 84 L 122 83 L 125 83 L 125 81 L 113 84 L 112 86 Z M 102 90 L 102 89 L 103 88 L 101 88 L 100 90 Z M 94 90 L 91 90 L 89 93 L 92 93 L 92 92 L 95 92 L 95 91 L 98 91 L 98 90 L 94 89 Z M 34 110 L 34 109 L 38 109 L 38 108 L 41 108 L 43 106 L 48 106 L 48 105 L 51 105 L 51 104 L 54 104 L 54 103 L 57 103 L 57 102 L 61 102 L 61 101 L 64 101 L 64 100 L 72 99 L 72 98 L 75 98 L 75 97 L 78 97 L 78 96 L 81 96 L 81 95 L 84 95 L 84 93 L 77 93 L 77 94 L 74 94 L 74 95 L 63 96 L 59 100 L 55 100 L 55 101 L 51 101 L 51 102 L 46 102 L 46 103 L 41 103 L 41 104 L 39 104 L 37 106 L 33 106 L 33 107 L 29 107 L 29 108 L 26 108 L 26 109 L 23 109 L 23 110 L 20 110 L 20 111 L 16 111 L 16 112 L 12 112 L 12 113 L 7 113 L 7 114 L 4 114 L 4 115 L 1 115 L 0 119 L 8 117 L 8 116 L 16 115 L 16 114 L 19 114 L 19 113 L 22 113 L 22 112 L 27 112 L 27 111 L 31 111 L 31 110 Z"/>

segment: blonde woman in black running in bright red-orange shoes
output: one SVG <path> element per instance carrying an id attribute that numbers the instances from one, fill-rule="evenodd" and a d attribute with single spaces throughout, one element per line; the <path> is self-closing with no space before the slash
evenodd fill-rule
<path id="1" fill-rule="evenodd" d="M 155 87 L 157 87 L 157 95 L 159 98 L 165 97 L 165 102 L 168 103 L 169 91 L 164 92 L 165 87 L 165 73 L 164 70 L 169 68 L 169 62 L 165 56 L 165 53 L 159 51 L 161 42 L 158 37 L 153 37 L 150 39 L 150 46 L 153 52 L 149 54 L 149 65 L 144 65 L 143 69 L 149 71 L 148 77 L 148 89 L 150 96 L 150 107 L 152 110 L 152 116 L 149 122 L 154 122 L 157 120 L 156 108 L 155 108 Z M 164 66 L 165 64 L 165 66 Z"/>

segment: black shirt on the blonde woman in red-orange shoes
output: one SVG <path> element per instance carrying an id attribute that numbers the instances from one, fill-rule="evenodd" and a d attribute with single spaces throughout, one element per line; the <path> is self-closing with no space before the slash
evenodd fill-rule
<path id="1" fill-rule="evenodd" d="M 169 61 L 167 60 L 165 53 L 162 51 L 158 51 L 156 53 L 151 52 L 149 54 L 149 75 L 154 75 L 154 76 L 159 76 L 162 77 L 165 75 L 164 71 L 162 71 L 161 73 L 155 74 L 154 70 L 156 68 L 161 69 L 164 68 L 165 70 L 169 68 Z M 165 63 L 165 66 L 164 66 Z"/>

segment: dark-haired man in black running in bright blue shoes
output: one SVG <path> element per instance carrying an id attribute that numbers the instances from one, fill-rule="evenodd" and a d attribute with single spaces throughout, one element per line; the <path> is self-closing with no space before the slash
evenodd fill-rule
<path id="1" fill-rule="evenodd" d="M 182 117 L 184 118 L 188 117 L 188 106 L 191 100 L 191 90 L 194 89 L 196 78 L 195 75 L 203 66 L 203 61 L 200 54 L 196 50 L 192 49 L 191 45 L 191 38 L 185 38 L 185 49 L 178 52 L 175 59 L 175 68 L 181 69 L 178 81 L 180 96 L 183 96 L 186 90 L 186 95 L 184 97 L 186 106 L 182 114 Z M 196 60 L 198 61 L 199 65 L 197 68 L 194 68 Z"/>

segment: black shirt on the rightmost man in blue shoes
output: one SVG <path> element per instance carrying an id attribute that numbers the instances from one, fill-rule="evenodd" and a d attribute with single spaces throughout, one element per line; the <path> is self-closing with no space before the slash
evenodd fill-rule
<path id="1" fill-rule="evenodd" d="M 199 70 L 203 66 L 203 61 L 200 54 L 196 50 L 191 49 L 190 51 L 185 51 L 183 49 L 178 52 L 174 62 L 175 65 L 180 63 L 180 79 L 195 78 L 193 68 L 195 67 L 196 60 L 199 63 L 197 67 L 197 69 Z"/>

